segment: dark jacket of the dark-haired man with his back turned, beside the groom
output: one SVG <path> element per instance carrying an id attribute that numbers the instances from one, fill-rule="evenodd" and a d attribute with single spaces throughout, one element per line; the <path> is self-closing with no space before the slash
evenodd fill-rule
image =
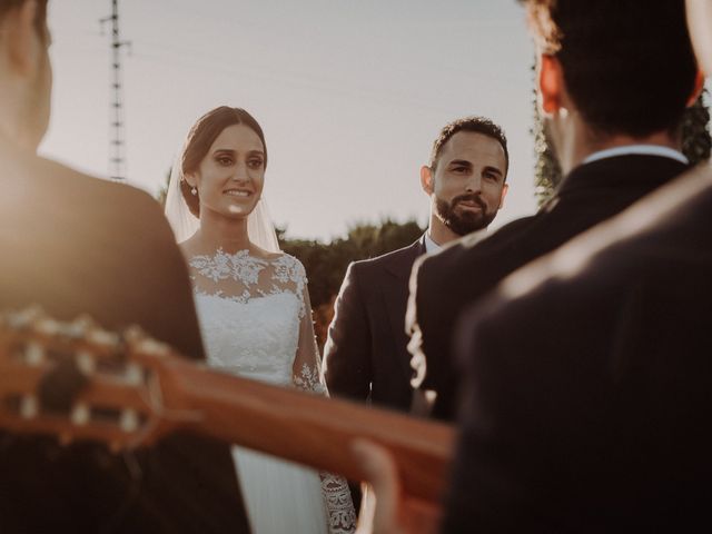
<path id="1" fill-rule="evenodd" d="M 474 246 L 464 238 L 416 263 L 415 295 L 409 303 L 415 309 L 408 310 L 415 322 L 409 328 L 416 338 L 422 336 L 425 359 L 414 357 L 414 366 L 425 375 L 421 388 L 437 392 L 433 415 L 455 417 L 459 380 L 453 366 L 452 338 L 467 305 L 515 269 L 619 214 L 686 169 L 674 159 L 643 155 L 582 165 L 570 172 L 536 216 L 514 221 Z M 512 335 L 520 333 L 513 330 Z"/>

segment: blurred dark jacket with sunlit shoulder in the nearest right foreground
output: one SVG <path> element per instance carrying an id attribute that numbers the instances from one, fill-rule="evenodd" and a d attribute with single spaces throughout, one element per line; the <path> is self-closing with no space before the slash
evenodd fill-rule
<path id="1" fill-rule="evenodd" d="M 711 274 L 712 172 L 700 168 L 467 313 L 443 532 L 709 525 Z"/>

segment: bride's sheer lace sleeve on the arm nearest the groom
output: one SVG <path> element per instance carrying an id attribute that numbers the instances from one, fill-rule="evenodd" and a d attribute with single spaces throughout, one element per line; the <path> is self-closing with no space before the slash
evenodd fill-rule
<path id="1" fill-rule="evenodd" d="M 299 345 L 293 367 L 294 385 L 306 392 L 328 395 L 322 376 L 319 349 L 314 337 L 306 275 L 303 276 L 304 281 L 298 284 L 301 290 L 303 313 L 299 322 Z M 319 476 L 329 520 L 329 533 L 347 534 L 355 532 L 356 512 L 354 511 L 354 503 L 346 478 L 327 472 L 320 472 Z"/>

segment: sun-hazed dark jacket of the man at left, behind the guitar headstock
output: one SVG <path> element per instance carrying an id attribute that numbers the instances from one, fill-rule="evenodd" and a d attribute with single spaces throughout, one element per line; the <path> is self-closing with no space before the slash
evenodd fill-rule
<path id="1" fill-rule="evenodd" d="M 187 269 L 139 190 L 0 147 L 0 309 L 138 324 L 204 359 Z M 136 455 L 0 435 L 0 532 L 245 533 L 228 447 L 174 436 Z"/>

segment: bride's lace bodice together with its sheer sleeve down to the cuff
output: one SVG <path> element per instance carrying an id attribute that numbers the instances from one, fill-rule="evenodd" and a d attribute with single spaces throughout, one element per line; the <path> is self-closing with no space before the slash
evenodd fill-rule
<path id="1" fill-rule="evenodd" d="M 247 250 L 188 260 L 208 364 L 227 373 L 326 394 L 304 266 L 283 254 Z M 330 534 L 352 533 L 346 481 L 320 473 Z"/>

